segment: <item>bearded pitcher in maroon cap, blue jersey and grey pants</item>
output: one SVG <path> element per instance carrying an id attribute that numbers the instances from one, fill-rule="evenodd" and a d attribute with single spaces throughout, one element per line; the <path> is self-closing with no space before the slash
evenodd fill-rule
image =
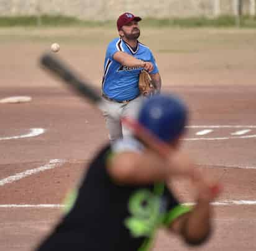
<path id="1" fill-rule="evenodd" d="M 109 109 L 111 114 L 116 113 L 116 117 L 134 117 L 140 101 L 147 95 L 160 92 L 161 88 L 161 78 L 152 51 L 137 40 L 140 36 L 140 20 L 140 17 L 131 13 L 120 15 L 117 20 L 119 38 L 112 40 L 106 51 L 102 82 L 106 109 L 103 115 L 111 142 L 128 135 L 129 130 L 121 121 L 112 118 Z M 140 77 L 142 70 L 147 71 L 150 77 Z M 139 79 L 140 82 L 150 79 L 149 89 L 145 86 L 139 89 L 142 86 L 139 85 Z"/>

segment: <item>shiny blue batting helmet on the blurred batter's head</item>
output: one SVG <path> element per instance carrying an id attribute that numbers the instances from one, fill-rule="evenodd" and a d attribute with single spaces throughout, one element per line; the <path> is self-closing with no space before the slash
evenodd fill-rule
<path id="1" fill-rule="evenodd" d="M 185 130 L 188 110 L 173 95 L 158 94 L 145 100 L 140 108 L 138 121 L 157 138 L 170 143 Z"/>

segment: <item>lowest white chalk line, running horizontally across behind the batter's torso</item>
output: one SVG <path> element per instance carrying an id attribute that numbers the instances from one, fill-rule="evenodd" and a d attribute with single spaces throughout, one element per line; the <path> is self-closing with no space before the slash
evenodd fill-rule
<path id="1" fill-rule="evenodd" d="M 194 203 L 183 203 L 183 205 L 194 205 Z M 256 205 L 255 200 L 223 200 L 211 203 L 213 206 L 234 206 L 234 205 Z M 62 204 L 39 204 L 39 205 L 0 205 L 0 208 L 63 208 Z"/>

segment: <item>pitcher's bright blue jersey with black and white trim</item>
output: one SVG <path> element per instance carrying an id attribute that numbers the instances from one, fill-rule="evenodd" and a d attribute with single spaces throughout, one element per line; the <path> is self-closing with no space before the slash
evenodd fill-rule
<path id="1" fill-rule="evenodd" d="M 123 51 L 137 59 L 153 63 L 154 68 L 150 74 L 158 73 L 155 58 L 149 47 L 140 42 L 137 43 L 135 50 L 132 50 L 130 45 L 121 38 L 115 38 L 109 43 L 104 62 L 103 93 L 117 101 L 134 99 L 139 95 L 139 73 L 143 68 L 130 68 L 120 64 L 113 58 L 117 51 Z"/>

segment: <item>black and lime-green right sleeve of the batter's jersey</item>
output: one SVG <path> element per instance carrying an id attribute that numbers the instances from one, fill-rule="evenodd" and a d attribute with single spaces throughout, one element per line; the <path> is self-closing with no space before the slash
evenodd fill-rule
<path id="1" fill-rule="evenodd" d="M 168 227 L 175 219 L 190 212 L 192 207 L 181 204 L 168 188 L 165 188 L 164 196 L 167 198 L 168 203 L 167 213 L 165 213 L 162 223 L 163 226 Z"/>

